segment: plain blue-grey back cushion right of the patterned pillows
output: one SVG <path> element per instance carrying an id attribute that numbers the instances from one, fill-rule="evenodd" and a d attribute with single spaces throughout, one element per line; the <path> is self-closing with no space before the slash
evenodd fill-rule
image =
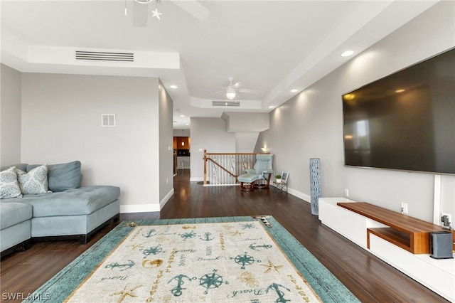
<path id="1" fill-rule="evenodd" d="M 39 164 L 28 165 L 27 171 L 36 168 Z M 63 164 L 48 165 L 48 186 L 50 191 L 66 191 L 70 188 L 80 187 L 81 173 L 80 161 Z"/>

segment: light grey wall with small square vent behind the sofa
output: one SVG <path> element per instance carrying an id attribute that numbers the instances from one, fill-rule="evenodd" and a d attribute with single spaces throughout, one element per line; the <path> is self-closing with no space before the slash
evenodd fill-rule
<path id="1" fill-rule="evenodd" d="M 159 134 L 172 139 L 159 112 L 157 78 L 23 73 L 21 161 L 80 160 L 84 185 L 120 186 L 121 212 L 159 211 Z M 117 127 L 101 127 L 102 114 Z"/>

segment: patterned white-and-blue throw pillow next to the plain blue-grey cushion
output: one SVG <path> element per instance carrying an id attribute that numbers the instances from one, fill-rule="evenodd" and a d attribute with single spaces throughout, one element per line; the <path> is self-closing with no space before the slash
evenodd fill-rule
<path id="1" fill-rule="evenodd" d="M 24 195 L 48 192 L 48 168 L 45 165 L 38 166 L 28 173 L 16 169 L 16 173 L 19 187 Z"/>

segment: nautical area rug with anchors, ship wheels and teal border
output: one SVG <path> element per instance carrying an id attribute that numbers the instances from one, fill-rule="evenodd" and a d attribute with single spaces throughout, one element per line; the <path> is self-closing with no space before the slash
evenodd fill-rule
<path id="1" fill-rule="evenodd" d="M 358 302 L 271 216 L 124 221 L 26 302 Z"/>

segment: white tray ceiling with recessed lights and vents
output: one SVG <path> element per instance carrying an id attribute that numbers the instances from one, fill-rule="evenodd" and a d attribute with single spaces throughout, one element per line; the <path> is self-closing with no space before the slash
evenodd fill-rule
<path id="1" fill-rule="evenodd" d="M 174 102 L 174 129 L 186 129 L 190 117 L 269 112 L 298 93 L 291 89 L 350 60 L 344 50 L 360 53 L 437 3 L 184 1 L 190 12 L 199 4 L 208 10 L 200 20 L 182 3 L 161 0 L 161 20 L 152 2 L 147 26 L 136 27 L 132 1 L 1 0 L 1 62 L 21 72 L 159 77 Z M 75 63 L 74 50 L 131 51 L 141 60 Z M 229 77 L 257 93 L 237 94 L 240 108 L 203 108 L 225 100 L 213 93 Z"/>

